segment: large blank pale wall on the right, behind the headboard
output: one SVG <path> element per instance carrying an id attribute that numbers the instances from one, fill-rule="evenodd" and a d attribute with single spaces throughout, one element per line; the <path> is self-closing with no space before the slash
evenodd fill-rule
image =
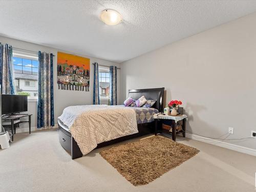
<path id="1" fill-rule="evenodd" d="M 120 101 L 127 90 L 165 87 L 179 99 L 187 130 L 229 138 L 256 131 L 256 13 L 121 63 Z M 228 142 L 228 141 L 226 141 Z M 229 141 L 256 149 L 256 139 Z"/>

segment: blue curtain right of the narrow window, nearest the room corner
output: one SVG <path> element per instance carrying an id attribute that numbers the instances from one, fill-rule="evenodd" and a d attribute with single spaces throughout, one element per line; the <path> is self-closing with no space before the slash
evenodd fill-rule
<path id="1" fill-rule="evenodd" d="M 110 97 L 109 97 L 109 104 L 110 105 L 116 105 L 117 104 L 117 92 L 116 92 L 116 75 L 117 75 L 117 67 L 116 66 L 110 66 Z"/>

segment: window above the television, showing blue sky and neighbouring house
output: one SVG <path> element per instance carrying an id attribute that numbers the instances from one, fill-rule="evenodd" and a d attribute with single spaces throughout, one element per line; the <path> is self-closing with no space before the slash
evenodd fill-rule
<path id="1" fill-rule="evenodd" d="M 38 59 L 34 56 L 13 52 L 13 71 L 16 94 L 36 99 L 38 92 Z"/>

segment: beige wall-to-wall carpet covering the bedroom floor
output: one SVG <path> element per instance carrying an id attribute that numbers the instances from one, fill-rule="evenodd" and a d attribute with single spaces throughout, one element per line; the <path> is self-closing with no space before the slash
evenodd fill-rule
<path id="1" fill-rule="evenodd" d="M 100 156 L 109 147 L 71 160 L 56 131 L 16 134 L 11 147 L 0 151 L 0 191 L 255 192 L 256 157 L 182 137 L 177 140 L 200 153 L 154 182 L 134 186 Z"/>

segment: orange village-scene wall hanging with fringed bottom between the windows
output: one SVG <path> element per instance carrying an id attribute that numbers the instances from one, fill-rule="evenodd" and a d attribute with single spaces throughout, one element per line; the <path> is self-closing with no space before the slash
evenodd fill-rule
<path id="1" fill-rule="evenodd" d="M 90 59 L 58 52 L 57 83 L 62 90 L 89 91 Z"/>

